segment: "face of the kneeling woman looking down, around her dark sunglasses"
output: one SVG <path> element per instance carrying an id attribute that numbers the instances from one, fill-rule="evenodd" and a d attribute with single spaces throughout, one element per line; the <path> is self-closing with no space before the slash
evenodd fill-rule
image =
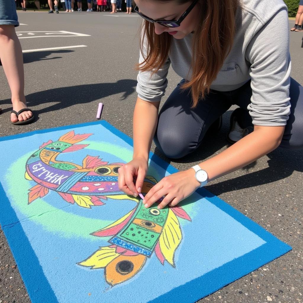
<path id="1" fill-rule="evenodd" d="M 178 20 L 192 3 L 192 1 L 189 1 L 178 4 L 178 1 L 162 2 L 153 0 L 135 0 L 135 2 L 139 12 L 154 20 Z M 175 39 L 182 39 L 195 31 L 199 23 L 199 15 L 200 5 L 198 2 L 179 27 L 169 28 L 155 22 L 155 33 L 160 35 L 163 32 L 169 32 Z"/>

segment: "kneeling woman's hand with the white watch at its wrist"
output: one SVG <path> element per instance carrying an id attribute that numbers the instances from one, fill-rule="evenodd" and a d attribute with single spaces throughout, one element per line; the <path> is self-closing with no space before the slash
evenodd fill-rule
<path id="1" fill-rule="evenodd" d="M 181 200 L 190 196 L 200 185 L 200 182 L 195 178 L 195 171 L 192 168 L 186 171 L 178 171 L 164 177 L 153 186 L 145 195 L 143 203 L 147 208 L 165 196 L 158 205 L 158 208 L 161 209 L 166 205 L 175 206 Z"/>

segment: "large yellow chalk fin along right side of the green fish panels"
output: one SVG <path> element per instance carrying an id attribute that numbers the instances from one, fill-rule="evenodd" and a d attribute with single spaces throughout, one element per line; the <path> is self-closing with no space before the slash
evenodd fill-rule
<path id="1" fill-rule="evenodd" d="M 179 221 L 174 212 L 168 208 L 168 218 L 163 226 L 159 238 L 159 245 L 164 258 L 168 263 L 175 267 L 175 251 L 182 240 L 182 233 Z"/>

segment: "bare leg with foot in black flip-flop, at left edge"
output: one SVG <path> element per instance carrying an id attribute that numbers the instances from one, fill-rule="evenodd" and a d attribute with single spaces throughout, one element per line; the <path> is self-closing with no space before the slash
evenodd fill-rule
<path id="1" fill-rule="evenodd" d="M 18 112 L 22 108 L 26 108 L 26 100 L 22 48 L 14 25 L 0 25 L 0 45 L 1 62 L 11 89 L 13 109 Z M 32 113 L 29 111 L 21 113 L 18 119 L 12 113 L 11 121 L 24 121 L 30 117 L 32 117 Z"/>

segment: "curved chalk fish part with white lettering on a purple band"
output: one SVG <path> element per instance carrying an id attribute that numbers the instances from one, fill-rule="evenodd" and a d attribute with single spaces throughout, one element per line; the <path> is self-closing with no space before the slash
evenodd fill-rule
<path id="1" fill-rule="evenodd" d="M 25 178 L 34 180 L 37 185 L 29 189 L 28 204 L 37 198 L 56 191 L 68 203 L 76 203 L 85 208 L 105 204 L 107 197 L 112 199 L 138 199 L 125 195 L 118 188 L 118 168 L 124 163 L 102 161 L 99 156 L 87 155 L 82 165 L 57 161 L 61 153 L 75 152 L 88 144 L 75 144 L 92 134 L 77 134 L 74 131 L 62 135 L 58 141 L 43 143 L 26 162 Z M 146 176 L 142 192 L 147 193 L 157 181 Z"/>

